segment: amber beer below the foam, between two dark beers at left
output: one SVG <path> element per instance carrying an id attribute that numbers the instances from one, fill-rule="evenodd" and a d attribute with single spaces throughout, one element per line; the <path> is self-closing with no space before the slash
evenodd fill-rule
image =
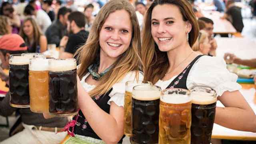
<path id="1" fill-rule="evenodd" d="M 49 111 L 49 72 L 29 71 L 30 110 L 36 113 Z"/>

